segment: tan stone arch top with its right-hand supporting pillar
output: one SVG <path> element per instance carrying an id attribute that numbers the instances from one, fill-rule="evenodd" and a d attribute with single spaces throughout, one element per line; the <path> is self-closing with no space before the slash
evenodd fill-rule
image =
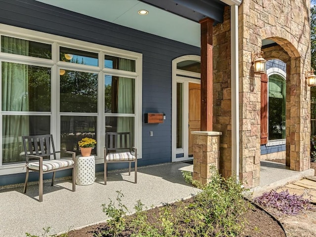
<path id="1" fill-rule="evenodd" d="M 296 171 L 309 169 L 310 89 L 304 78 L 304 72 L 310 66 L 308 52 L 302 49 L 300 38 L 283 28 L 263 28 L 261 35 L 262 39 L 276 42 L 262 48 L 264 57 L 286 63 L 286 165 Z"/>

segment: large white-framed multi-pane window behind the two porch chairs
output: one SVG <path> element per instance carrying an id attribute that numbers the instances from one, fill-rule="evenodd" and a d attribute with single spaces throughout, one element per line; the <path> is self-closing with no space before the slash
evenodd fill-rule
<path id="1" fill-rule="evenodd" d="M 0 30 L 0 165 L 23 167 L 22 136 L 43 134 L 77 155 L 78 141 L 91 137 L 101 163 L 105 132 L 127 131 L 141 158 L 142 55 L 25 29 L 19 38 L 19 29 Z"/>

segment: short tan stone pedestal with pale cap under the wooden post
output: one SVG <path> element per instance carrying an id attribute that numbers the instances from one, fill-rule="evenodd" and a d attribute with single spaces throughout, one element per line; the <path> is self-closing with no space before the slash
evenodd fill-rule
<path id="1" fill-rule="evenodd" d="M 210 167 L 219 169 L 219 136 L 222 132 L 195 131 L 193 135 L 193 179 L 202 185 L 209 182 Z"/>

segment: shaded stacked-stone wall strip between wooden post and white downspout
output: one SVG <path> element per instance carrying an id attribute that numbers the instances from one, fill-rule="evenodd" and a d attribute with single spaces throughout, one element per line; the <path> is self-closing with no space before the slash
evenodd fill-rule
<path id="1" fill-rule="evenodd" d="M 219 172 L 232 174 L 231 26 L 230 8 L 213 28 L 213 130 L 222 132 Z"/>

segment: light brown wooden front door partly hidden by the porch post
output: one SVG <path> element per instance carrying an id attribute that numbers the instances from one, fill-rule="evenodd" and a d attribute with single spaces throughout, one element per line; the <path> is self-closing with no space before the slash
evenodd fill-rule
<path id="1" fill-rule="evenodd" d="M 189 157 L 193 157 L 192 131 L 200 131 L 201 86 L 189 82 Z"/>

